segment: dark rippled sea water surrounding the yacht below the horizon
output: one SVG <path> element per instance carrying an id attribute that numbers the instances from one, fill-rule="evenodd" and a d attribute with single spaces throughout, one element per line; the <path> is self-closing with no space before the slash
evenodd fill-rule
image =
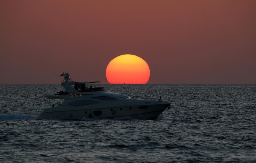
<path id="1" fill-rule="evenodd" d="M 256 162 L 256 85 L 102 85 L 156 120 L 37 120 L 60 85 L 0 85 L 0 162 Z"/>

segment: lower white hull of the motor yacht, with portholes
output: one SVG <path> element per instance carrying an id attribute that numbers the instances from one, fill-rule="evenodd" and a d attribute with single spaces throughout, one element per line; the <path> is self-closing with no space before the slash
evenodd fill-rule
<path id="1" fill-rule="evenodd" d="M 168 106 L 169 102 L 157 102 L 151 105 L 120 106 L 97 108 L 97 105 L 60 106 L 44 109 L 38 119 L 107 119 L 123 117 L 124 119 L 156 119 Z M 102 107 L 102 106 L 101 106 Z"/>

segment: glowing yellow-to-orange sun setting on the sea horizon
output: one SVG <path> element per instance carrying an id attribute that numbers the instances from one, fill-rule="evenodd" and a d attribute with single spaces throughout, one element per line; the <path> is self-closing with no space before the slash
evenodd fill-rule
<path id="1" fill-rule="evenodd" d="M 149 76 L 147 62 L 131 54 L 112 59 L 106 69 L 106 77 L 110 84 L 146 84 Z"/>

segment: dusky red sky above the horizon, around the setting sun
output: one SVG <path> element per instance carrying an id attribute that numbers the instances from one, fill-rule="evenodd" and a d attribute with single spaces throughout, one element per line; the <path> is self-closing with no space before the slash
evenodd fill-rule
<path id="1" fill-rule="evenodd" d="M 0 83 L 100 80 L 116 56 L 148 83 L 256 83 L 256 1 L 0 1 Z"/>

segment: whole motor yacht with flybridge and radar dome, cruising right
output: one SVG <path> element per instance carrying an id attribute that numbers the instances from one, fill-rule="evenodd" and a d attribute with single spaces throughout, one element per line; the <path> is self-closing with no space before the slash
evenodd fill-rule
<path id="1" fill-rule="evenodd" d="M 97 87 L 100 82 L 74 82 L 68 73 L 61 74 L 65 91 L 45 95 L 48 99 L 63 99 L 60 106 L 45 108 L 38 119 L 156 119 L 170 103 L 127 97 Z M 88 88 L 88 86 L 90 88 Z M 93 85 L 93 87 L 92 87 Z"/>

